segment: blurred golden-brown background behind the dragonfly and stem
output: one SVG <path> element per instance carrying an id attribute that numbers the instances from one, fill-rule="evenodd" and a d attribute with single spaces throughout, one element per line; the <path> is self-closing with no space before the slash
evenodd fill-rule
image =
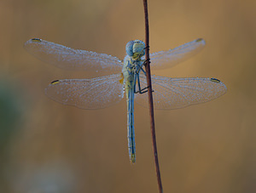
<path id="1" fill-rule="evenodd" d="M 153 74 L 216 77 L 228 92 L 155 111 L 165 192 L 256 192 L 256 1 L 148 1 L 150 52 L 198 37 L 193 59 Z M 143 1 L 0 2 L 0 192 L 157 192 L 148 110 L 135 106 L 137 163 L 127 150 L 125 100 L 97 111 L 56 103 L 49 82 L 84 78 L 26 53 L 32 37 L 125 56 L 144 40 Z"/>

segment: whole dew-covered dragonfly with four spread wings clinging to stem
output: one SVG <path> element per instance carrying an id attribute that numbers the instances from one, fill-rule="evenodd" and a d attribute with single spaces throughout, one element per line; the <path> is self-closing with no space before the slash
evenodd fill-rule
<path id="1" fill-rule="evenodd" d="M 205 44 L 199 38 L 177 48 L 149 54 L 151 69 L 161 70 L 177 65 L 199 53 Z M 108 54 L 68 48 L 39 38 L 28 40 L 24 48 L 39 60 L 64 70 L 111 73 L 104 77 L 55 80 L 45 88 L 45 94 L 61 104 L 87 110 L 117 104 L 125 95 L 128 150 L 131 163 L 135 163 L 134 101 L 148 106 L 148 94 L 145 94 L 148 91 L 144 69 L 145 43 L 141 40 L 127 43 L 124 60 Z M 218 98 L 227 90 L 217 78 L 152 76 L 151 79 L 154 108 L 161 110 L 204 103 Z"/>

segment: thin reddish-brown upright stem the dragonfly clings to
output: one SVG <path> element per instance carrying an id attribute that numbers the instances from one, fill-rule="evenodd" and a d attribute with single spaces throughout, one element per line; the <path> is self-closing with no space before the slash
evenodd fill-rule
<path id="1" fill-rule="evenodd" d="M 155 164 L 155 170 L 156 170 L 156 176 L 158 181 L 158 187 L 160 193 L 163 192 L 161 177 L 160 177 L 160 167 L 158 162 L 158 154 L 157 154 L 157 148 L 156 148 L 156 139 L 155 139 L 155 129 L 154 129 L 154 106 L 153 106 L 153 95 L 152 95 L 152 84 L 151 84 L 151 73 L 150 73 L 150 61 L 149 61 L 149 31 L 148 31 L 148 2 L 147 0 L 143 0 L 144 4 L 144 13 L 145 13 L 145 31 L 146 31 L 146 37 L 145 37 L 145 69 L 147 73 L 147 82 L 148 82 L 148 105 L 149 105 L 149 116 L 150 116 L 150 128 L 151 128 L 151 135 L 152 135 L 152 143 L 153 143 L 153 149 L 154 149 L 154 164 Z"/>

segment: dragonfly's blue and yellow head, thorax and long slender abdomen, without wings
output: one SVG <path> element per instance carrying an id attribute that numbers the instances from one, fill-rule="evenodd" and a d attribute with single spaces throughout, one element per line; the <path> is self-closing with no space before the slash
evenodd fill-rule
<path id="1" fill-rule="evenodd" d="M 136 77 L 143 65 L 141 59 L 145 54 L 145 43 L 141 40 L 130 41 L 126 44 L 126 56 L 123 66 L 125 94 L 127 101 L 127 137 L 131 163 L 136 162 L 135 133 L 134 133 L 134 92 Z"/>

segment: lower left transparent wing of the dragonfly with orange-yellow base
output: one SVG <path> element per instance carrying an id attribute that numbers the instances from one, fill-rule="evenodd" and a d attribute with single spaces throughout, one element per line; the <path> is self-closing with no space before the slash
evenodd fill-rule
<path id="1" fill-rule="evenodd" d="M 81 109 L 101 109 L 118 103 L 124 96 L 122 74 L 91 79 L 51 82 L 45 89 L 49 98 Z"/>

